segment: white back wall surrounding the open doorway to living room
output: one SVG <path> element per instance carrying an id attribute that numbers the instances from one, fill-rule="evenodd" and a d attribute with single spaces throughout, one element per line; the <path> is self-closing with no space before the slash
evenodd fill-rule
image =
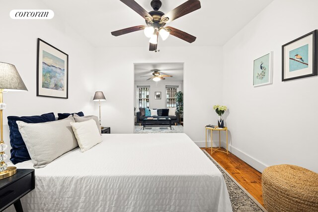
<path id="1" fill-rule="evenodd" d="M 106 95 L 104 126 L 112 133 L 133 133 L 134 63 L 184 63 L 184 132 L 205 141 L 204 126 L 216 120 L 213 104 L 222 101 L 222 47 L 100 48 L 95 52 L 96 84 Z M 216 115 L 216 114 L 215 114 Z"/>

